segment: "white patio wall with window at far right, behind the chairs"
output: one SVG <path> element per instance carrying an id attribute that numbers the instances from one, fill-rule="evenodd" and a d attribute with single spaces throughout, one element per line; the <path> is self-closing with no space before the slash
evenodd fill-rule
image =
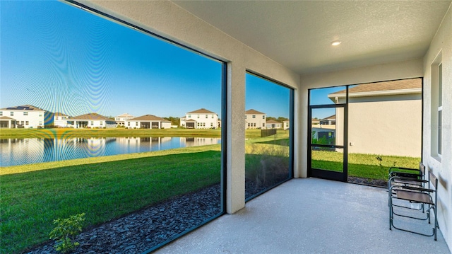
<path id="1" fill-rule="evenodd" d="M 443 125 L 441 158 L 432 156 L 432 64 L 441 52 L 443 64 Z M 424 122 L 423 150 L 424 165 L 438 177 L 439 229 L 452 250 L 452 8 L 449 8 L 443 23 L 436 32 L 424 57 Z"/>

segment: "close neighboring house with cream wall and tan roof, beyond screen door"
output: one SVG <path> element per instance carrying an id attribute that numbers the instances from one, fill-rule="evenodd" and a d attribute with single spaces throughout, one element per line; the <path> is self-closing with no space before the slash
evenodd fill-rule
<path id="1" fill-rule="evenodd" d="M 421 156 L 422 79 L 364 83 L 348 93 L 349 153 Z M 328 98 L 345 103 L 345 90 Z M 343 108 L 337 110 L 342 128 Z M 343 131 L 336 138 L 342 144 Z"/>

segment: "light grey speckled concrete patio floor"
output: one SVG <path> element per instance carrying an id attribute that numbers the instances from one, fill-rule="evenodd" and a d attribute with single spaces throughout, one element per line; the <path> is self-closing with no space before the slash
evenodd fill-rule
<path id="1" fill-rule="evenodd" d="M 417 224 L 432 231 L 426 221 Z M 388 229 L 388 192 L 297 178 L 155 253 L 451 253 L 438 241 Z"/>

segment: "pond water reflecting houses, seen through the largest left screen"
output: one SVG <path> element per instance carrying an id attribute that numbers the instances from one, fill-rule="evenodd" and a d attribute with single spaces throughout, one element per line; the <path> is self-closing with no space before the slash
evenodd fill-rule
<path id="1" fill-rule="evenodd" d="M 220 144 L 217 137 L 105 137 L 71 139 L 0 139 L 0 166 L 65 161 L 115 154 Z"/>

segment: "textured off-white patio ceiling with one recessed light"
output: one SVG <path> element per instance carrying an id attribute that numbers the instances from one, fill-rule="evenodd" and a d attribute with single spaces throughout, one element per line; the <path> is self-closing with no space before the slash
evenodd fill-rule
<path id="1" fill-rule="evenodd" d="M 299 74 L 423 57 L 451 6 L 451 0 L 173 2 Z M 334 40 L 342 44 L 333 47 Z"/>

